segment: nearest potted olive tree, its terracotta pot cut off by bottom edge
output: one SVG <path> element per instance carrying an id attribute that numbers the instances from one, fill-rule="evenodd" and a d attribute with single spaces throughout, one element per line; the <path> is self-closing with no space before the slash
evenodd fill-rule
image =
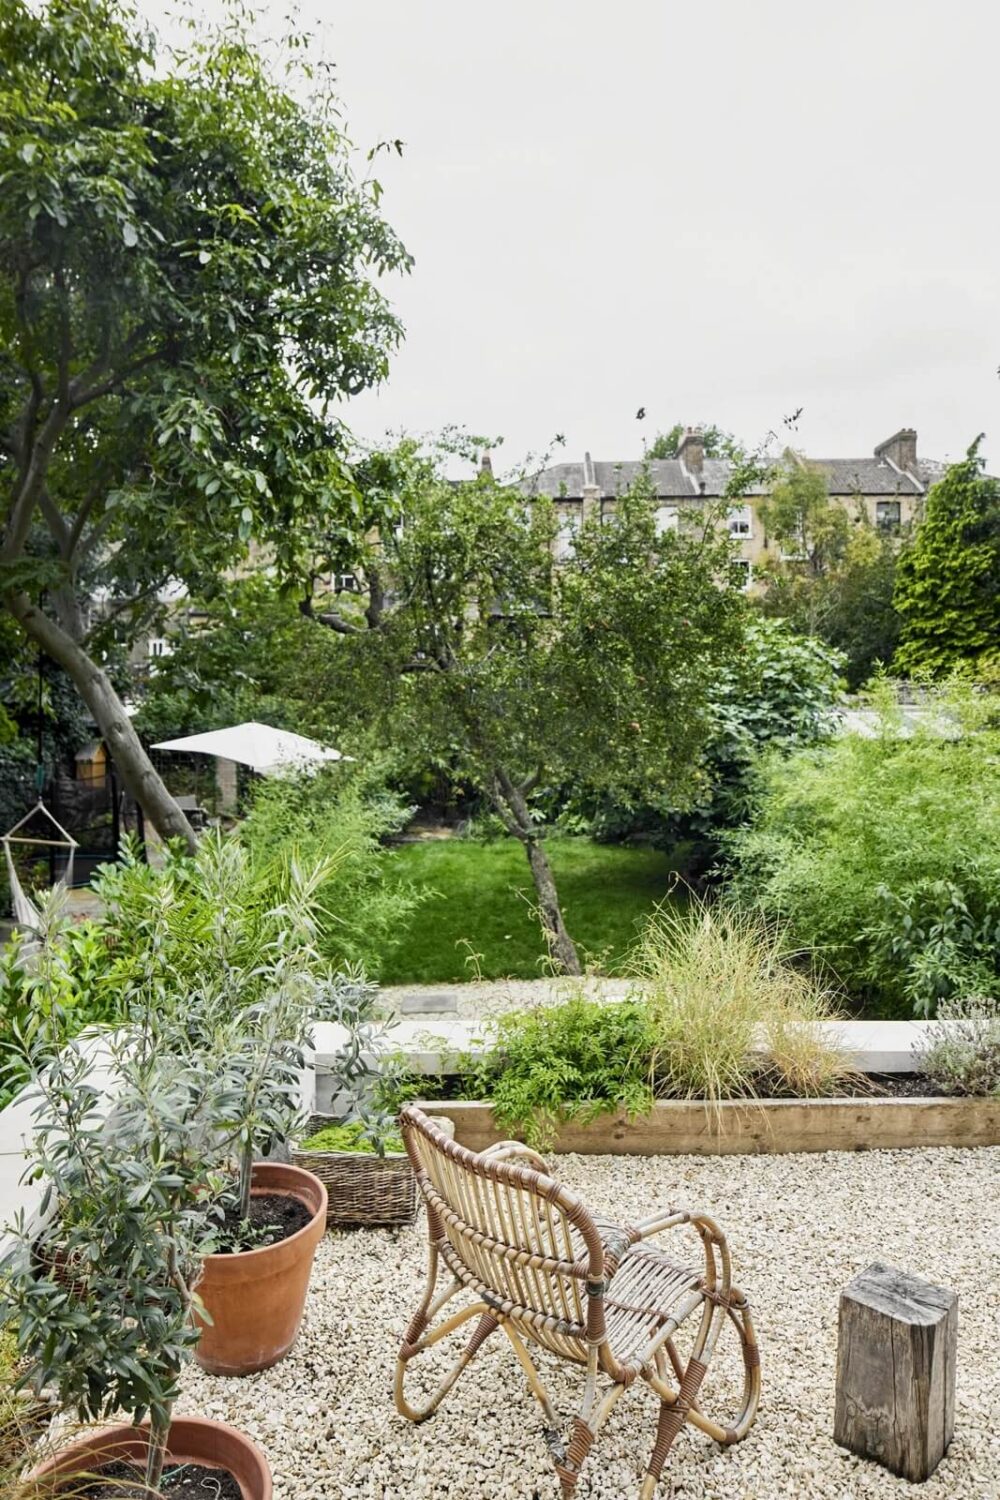
<path id="1" fill-rule="evenodd" d="M 4 1320 L 16 1328 L 22 1384 L 48 1388 L 82 1422 L 129 1420 L 76 1438 L 39 1478 L 72 1492 L 81 1473 L 132 1476 L 172 1496 L 270 1500 L 259 1449 L 234 1428 L 174 1420 L 196 1341 L 198 1281 L 213 1216 L 216 1078 L 190 1059 L 153 1059 L 133 1034 L 109 1038 L 117 1098 L 102 1118 L 87 1047 L 28 1048 L 39 1104 L 33 1167 L 46 1179 L 37 1230 L 16 1226 L 1 1269 Z M 178 1473 L 180 1472 L 180 1473 Z M 213 1492 L 214 1492 L 213 1488 Z"/>

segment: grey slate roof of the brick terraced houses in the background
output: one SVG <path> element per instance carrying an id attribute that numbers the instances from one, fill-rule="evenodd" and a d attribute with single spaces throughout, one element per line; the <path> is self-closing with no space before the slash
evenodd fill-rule
<path id="1" fill-rule="evenodd" d="M 934 484 L 943 464 L 921 460 L 918 480 L 892 466 L 888 459 L 810 459 L 826 470 L 831 495 L 922 495 Z M 613 498 L 628 489 L 643 465 L 639 460 L 621 464 L 594 462 L 594 478 L 604 498 Z M 693 501 L 699 495 L 708 498 L 723 495 L 732 465 L 727 459 L 705 459 L 700 484 L 679 459 L 652 459 L 649 474 L 658 500 Z M 541 470 L 523 484 L 529 495 L 549 495 L 552 500 L 583 498 L 583 464 L 553 464 Z M 747 494 L 765 494 L 765 486 L 754 486 Z"/>

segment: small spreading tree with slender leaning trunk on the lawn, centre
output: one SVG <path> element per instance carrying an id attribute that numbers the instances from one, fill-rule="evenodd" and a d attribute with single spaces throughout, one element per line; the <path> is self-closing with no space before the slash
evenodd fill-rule
<path id="1" fill-rule="evenodd" d="M 549 501 L 396 462 L 402 526 L 358 562 L 375 588 L 354 618 L 324 614 L 343 636 L 328 693 L 490 801 L 528 856 L 552 958 L 576 974 L 535 798 L 577 778 L 621 798 L 696 795 L 709 687 L 745 610 L 729 543 L 712 520 L 657 538 L 640 483 L 555 562 Z"/>

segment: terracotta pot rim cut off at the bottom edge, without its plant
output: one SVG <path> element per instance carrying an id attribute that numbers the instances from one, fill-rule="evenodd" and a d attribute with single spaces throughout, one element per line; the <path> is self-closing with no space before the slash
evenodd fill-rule
<path id="1" fill-rule="evenodd" d="M 111 1426 L 70 1443 L 34 1473 L 39 1479 L 49 1476 L 72 1479 L 115 1460 L 144 1464 L 147 1444 L 147 1426 Z M 199 1416 L 177 1418 L 171 1422 L 168 1462 L 228 1468 L 240 1486 L 243 1500 L 271 1500 L 271 1470 L 267 1458 L 256 1443 L 225 1422 L 208 1422 Z"/>

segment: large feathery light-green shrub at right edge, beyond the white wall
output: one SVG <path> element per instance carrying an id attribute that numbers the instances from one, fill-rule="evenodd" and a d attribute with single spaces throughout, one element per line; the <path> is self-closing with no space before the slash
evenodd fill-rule
<path id="1" fill-rule="evenodd" d="M 883 710 L 874 738 L 768 758 L 727 836 L 738 896 L 882 1014 L 1000 978 L 1000 734 L 988 704 L 954 712 L 952 734 L 906 738 Z"/>

